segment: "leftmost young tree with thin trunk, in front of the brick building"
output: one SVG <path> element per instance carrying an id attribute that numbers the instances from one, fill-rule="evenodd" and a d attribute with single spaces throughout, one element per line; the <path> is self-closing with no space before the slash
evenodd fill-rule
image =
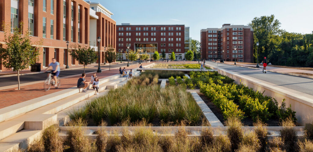
<path id="1" fill-rule="evenodd" d="M 40 55 L 39 49 L 42 40 L 32 43 L 29 33 L 23 33 L 22 22 L 19 24 L 19 28 L 13 29 L 13 33 L 10 30 L 10 25 L 3 25 L 5 47 L 0 46 L 0 58 L 2 58 L 2 65 L 5 68 L 12 68 L 13 71 L 18 72 L 18 90 L 20 90 L 19 71 L 36 63 Z"/>

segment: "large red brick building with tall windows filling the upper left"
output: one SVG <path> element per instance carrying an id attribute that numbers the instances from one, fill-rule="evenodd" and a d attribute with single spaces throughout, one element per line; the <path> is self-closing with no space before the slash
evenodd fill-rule
<path id="1" fill-rule="evenodd" d="M 29 32 L 33 41 L 43 39 L 39 57 L 42 67 L 48 66 L 52 58 L 56 58 L 61 67 L 66 66 L 67 58 L 69 66 L 79 64 L 70 55 L 66 56 L 69 54 L 67 41 L 69 48 L 75 44 L 89 46 L 93 45 L 90 41 L 99 35 L 101 51 L 108 44 L 115 47 L 116 22 L 110 18 L 113 13 L 98 3 L 84 0 L 2 0 L 0 10 L 1 27 L 4 23 L 12 32 L 23 22 L 23 33 Z M 100 23 L 105 25 L 98 26 Z M 96 29 L 96 33 L 90 34 L 91 28 Z M 0 28 L 0 43 L 4 44 L 3 28 Z M 0 70 L 10 69 L 0 63 Z"/>

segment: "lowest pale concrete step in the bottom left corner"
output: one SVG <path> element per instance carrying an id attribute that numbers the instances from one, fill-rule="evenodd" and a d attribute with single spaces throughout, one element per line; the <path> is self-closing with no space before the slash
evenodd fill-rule
<path id="1" fill-rule="evenodd" d="M 7 145 L 7 148 L 11 149 L 14 144 L 19 144 L 21 149 L 27 149 L 28 144 L 30 144 L 34 139 L 39 138 L 41 134 L 42 130 L 23 129 L 7 138 L 2 139 L 0 141 L 0 145 Z M 8 151 L 8 149 L 1 147 L 0 151 Z"/>

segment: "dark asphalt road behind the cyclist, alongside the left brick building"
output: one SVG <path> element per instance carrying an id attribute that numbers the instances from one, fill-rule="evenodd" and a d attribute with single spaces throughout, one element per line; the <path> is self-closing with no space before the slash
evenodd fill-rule
<path id="1" fill-rule="evenodd" d="M 129 64 L 131 65 L 131 62 Z M 136 64 L 136 62 L 134 62 L 133 64 Z M 123 67 L 123 66 L 126 67 L 126 65 L 127 65 L 127 63 L 111 64 L 111 68 Z M 106 64 L 106 65 L 102 64 L 100 67 L 103 69 L 106 69 L 106 68 L 109 68 L 109 64 Z M 97 68 L 95 68 L 95 67 L 85 68 L 85 73 L 93 72 L 93 71 L 97 71 Z M 59 77 L 81 74 L 83 72 L 84 72 L 84 68 L 64 70 L 64 71 L 60 72 Z M 20 75 L 20 83 L 23 84 L 23 83 L 41 81 L 41 80 L 45 80 L 46 78 L 47 78 L 47 73 Z M 0 87 L 15 85 L 15 84 L 17 84 L 17 80 L 18 80 L 17 76 L 0 78 Z"/>

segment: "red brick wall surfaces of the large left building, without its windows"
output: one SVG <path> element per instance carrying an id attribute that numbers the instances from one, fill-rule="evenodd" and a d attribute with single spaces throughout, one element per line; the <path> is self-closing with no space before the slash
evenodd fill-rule
<path id="1" fill-rule="evenodd" d="M 14 0 L 13 0 L 14 1 Z M 33 36 L 31 39 L 33 41 L 43 40 L 41 54 L 39 56 L 39 63 L 42 66 L 48 66 L 52 62 L 52 58 L 56 57 L 60 66 L 66 66 L 66 58 L 68 58 L 68 64 L 78 65 L 78 61 L 72 60 L 71 56 L 64 55 L 67 53 L 66 42 L 69 42 L 69 49 L 75 44 L 79 45 L 90 45 L 90 4 L 84 0 L 45 0 L 46 10 L 44 11 L 43 0 L 34 0 L 33 6 L 29 6 L 28 0 L 18 1 L 18 22 L 23 22 L 23 32 L 28 32 L 28 12 L 29 8 L 33 7 L 33 20 L 34 29 Z M 51 5 L 53 3 L 53 7 Z M 64 18 L 64 3 L 65 3 L 65 18 Z M 73 7 L 73 19 L 72 19 L 72 7 Z M 51 9 L 53 8 L 53 9 Z M 11 23 L 11 0 L 0 1 L 0 23 L 3 22 L 10 27 Z M 108 44 L 114 44 L 115 35 L 115 24 L 116 22 L 107 16 L 103 16 L 102 13 L 97 12 L 97 15 L 101 16 L 99 18 L 106 18 L 108 23 L 111 25 L 109 37 L 102 38 L 101 41 L 109 41 Z M 80 17 L 80 18 L 79 18 Z M 43 35 L 43 18 L 46 18 L 46 36 Z M 51 24 L 53 20 L 53 37 L 51 37 Z M 65 22 L 64 22 L 65 21 Z M 65 23 L 65 39 L 63 39 L 63 29 Z M 73 25 L 73 36 L 72 36 L 72 25 Z M 100 27 L 99 27 L 100 28 Z M 80 32 L 79 32 L 80 29 Z M 97 29 L 98 30 L 98 29 Z M 106 29 L 104 33 L 106 32 Z M 80 33 L 80 34 L 79 34 Z M 73 37 L 73 38 L 72 38 Z M 0 29 L 0 43 L 4 43 L 4 32 Z M 44 52 L 45 50 L 45 62 Z M 100 49 L 104 50 L 104 48 Z M 103 63 L 103 62 L 102 62 Z M 0 70 L 7 71 L 3 66 L 0 66 Z"/>

